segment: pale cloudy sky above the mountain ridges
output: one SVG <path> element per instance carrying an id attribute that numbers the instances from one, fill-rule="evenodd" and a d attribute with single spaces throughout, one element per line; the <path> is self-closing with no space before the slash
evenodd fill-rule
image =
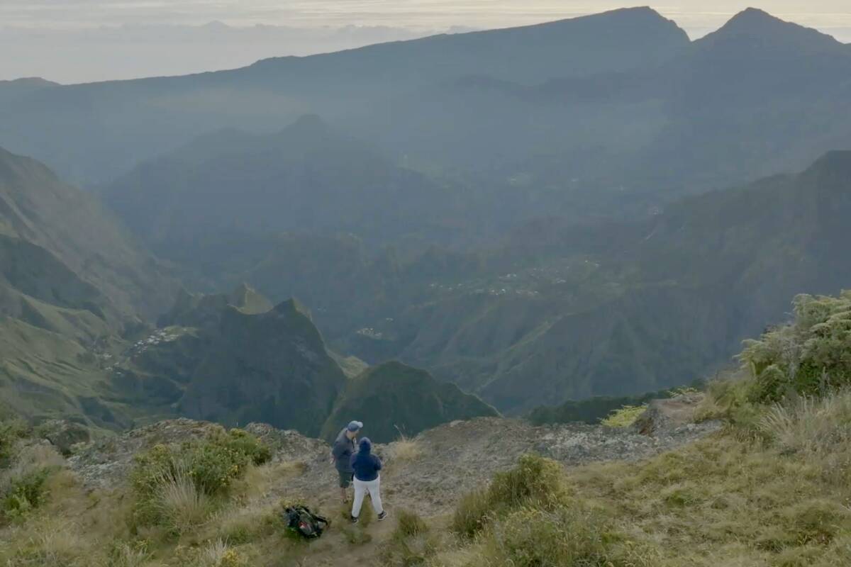
<path id="1" fill-rule="evenodd" d="M 173 75 L 442 31 L 520 26 L 610 0 L 0 0 L 0 80 Z M 851 0 L 650 3 L 691 37 L 750 5 L 851 43 Z M 214 24 L 210 25 L 210 22 Z M 8 56 L 11 55 L 11 56 Z"/>

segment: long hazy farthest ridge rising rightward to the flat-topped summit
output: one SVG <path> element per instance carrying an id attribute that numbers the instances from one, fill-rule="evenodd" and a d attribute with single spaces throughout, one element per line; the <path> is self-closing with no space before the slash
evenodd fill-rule
<path id="1" fill-rule="evenodd" d="M 650 9 L 623 9 L 263 60 L 233 71 L 63 86 L 0 107 L 0 145 L 37 156 L 68 179 L 104 182 L 218 128 L 269 131 L 311 112 L 334 120 L 366 102 L 477 72 L 538 82 L 553 72 L 625 71 L 687 46 L 685 32 L 670 20 Z M 89 135 L 81 139 L 83 131 Z"/>

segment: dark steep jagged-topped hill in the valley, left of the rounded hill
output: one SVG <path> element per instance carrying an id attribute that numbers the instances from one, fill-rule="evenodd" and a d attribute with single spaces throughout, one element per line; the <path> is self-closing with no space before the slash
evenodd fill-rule
<path id="1" fill-rule="evenodd" d="M 322 336 L 294 301 L 255 315 L 230 307 L 180 400 L 180 412 L 315 435 L 345 383 Z"/>

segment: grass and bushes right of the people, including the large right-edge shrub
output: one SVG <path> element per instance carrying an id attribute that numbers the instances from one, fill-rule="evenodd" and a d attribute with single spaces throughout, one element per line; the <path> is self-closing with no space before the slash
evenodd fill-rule
<path id="1" fill-rule="evenodd" d="M 851 564 L 851 293 L 801 296 L 795 315 L 710 384 L 721 433 L 639 464 L 525 456 L 460 502 L 441 551 L 395 564 Z"/>

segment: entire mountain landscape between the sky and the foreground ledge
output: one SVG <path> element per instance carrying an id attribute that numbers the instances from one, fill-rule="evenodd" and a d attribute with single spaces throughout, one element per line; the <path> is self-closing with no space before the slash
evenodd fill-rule
<path id="1" fill-rule="evenodd" d="M 0 388 L 105 428 L 372 412 L 390 439 L 690 383 L 848 285 L 848 71 L 759 10 L 689 42 L 626 9 L 0 83 L 0 142 L 98 182 L 0 151 Z"/>

